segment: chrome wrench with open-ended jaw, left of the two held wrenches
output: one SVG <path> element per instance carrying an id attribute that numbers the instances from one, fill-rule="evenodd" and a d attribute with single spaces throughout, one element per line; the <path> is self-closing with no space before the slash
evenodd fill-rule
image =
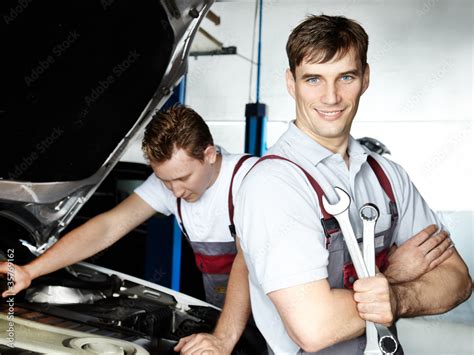
<path id="1" fill-rule="evenodd" d="M 359 278 L 369 277 L 369 271 L 362 257 L 362 253 L 359 249 L 359 243 L 357 243 L 357 238 L 352 229 L 351 221 L 349 219 L 349 206 L 351 204 L 351 197 L 349 194 L 341 189 L 340 187 L 335 187 L 337 195 L 339 196 L 339 202 L 331 205 L 326 199 L 326 196 L 323 196 L 323 206 L 328 213 L 336 218 L 341 228 L 341 232 L 346 241 L 347 249 L 354 264 L 357 276 Z M 375 253 L 375 251 L 374 251 Z M 372 322 L 367 322 L 373 324 Z M 395 337 L 392 335 L 390 330 L 381 325 L 375 324 L 377 333 L 379 335 L 379 348 L 383 354 L 394 354 L 398 349 L 398 343 Z"/>

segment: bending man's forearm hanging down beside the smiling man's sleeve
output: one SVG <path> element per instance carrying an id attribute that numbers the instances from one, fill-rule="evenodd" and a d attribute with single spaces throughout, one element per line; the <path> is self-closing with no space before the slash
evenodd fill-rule
<path id="1" fill-rule="evenodd" d="M 250 313 L 248 271 L 242 254 L 238 253 L 232 265 L 225 304 L 213 333 L 226 342 L 229 351 L 242 335 Z"/>

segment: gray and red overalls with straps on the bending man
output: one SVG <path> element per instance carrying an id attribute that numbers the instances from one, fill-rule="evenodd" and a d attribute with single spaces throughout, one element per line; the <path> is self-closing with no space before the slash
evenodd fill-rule
<path id="1" fill-rule="evenodd" d="M 204 283 L 204 291 L 206 292 L 206 301 L 222 308 L 224 305 L 225 293 L 227 290 L 227 282 L 229 281 L 230 270 L 237 254 L 235 246 L 235 226 L 234 226 L 234 203 L 232 196 L 232 187 L 234 184 L 234 177 L 239 171 L 242 164 L 252 157 L 251 155 L 242 156 L 234 167 L 232 178 L 230 180 L 228 193 L 228 211 L 229 211 L 229 231 L 234 239 L 231 242 L 194 242 L 192 241 L 186 228 L 184 227 L 183 216 L 181 214 L 181 199 L 176 200 L 179 224 L 181 230 L 191 244 L 194 252 L 196 265 L 202 272 L 202 279 Z"/>

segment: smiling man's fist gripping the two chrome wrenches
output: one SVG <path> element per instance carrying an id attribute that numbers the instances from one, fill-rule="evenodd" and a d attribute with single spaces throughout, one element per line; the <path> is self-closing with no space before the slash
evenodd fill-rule
<path id="1" fill-rule="evenodd" d="M 397 318 L 397 298 L 383 274 L 357 280 L 354 301 L 362 319 L 389 327 Z"/>

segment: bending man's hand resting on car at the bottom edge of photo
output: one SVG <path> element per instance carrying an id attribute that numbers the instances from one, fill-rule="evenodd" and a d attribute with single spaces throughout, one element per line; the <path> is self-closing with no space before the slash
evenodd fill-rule
<path id="1" fill-rule="evenodd" d="M 199 333 L 181 338 L 174 351 L 180 351 L 184 355 L 227 355 L 232 352 L 232 348 L 228 348 L 224 339 Z"/>

